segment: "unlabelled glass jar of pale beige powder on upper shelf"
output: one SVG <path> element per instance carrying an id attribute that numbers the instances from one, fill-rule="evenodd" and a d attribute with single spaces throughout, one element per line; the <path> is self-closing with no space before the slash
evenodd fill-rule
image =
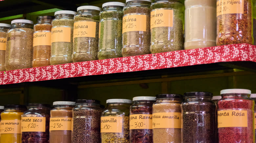
<path id="1" fill-rule="evenodd" d="M 216 46 L 216 0 L 185 0 L 185 50 Z"/>

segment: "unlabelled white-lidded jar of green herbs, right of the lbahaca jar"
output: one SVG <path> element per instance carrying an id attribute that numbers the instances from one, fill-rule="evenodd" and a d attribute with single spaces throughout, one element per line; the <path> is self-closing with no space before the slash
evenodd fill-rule
<path id="1" fill-rule="evenodd" d="M 122 57 L 122 19 L 125 6 L 120 2 L 102 5 L 103 10 L 99 14 L 99 59 Z"/>

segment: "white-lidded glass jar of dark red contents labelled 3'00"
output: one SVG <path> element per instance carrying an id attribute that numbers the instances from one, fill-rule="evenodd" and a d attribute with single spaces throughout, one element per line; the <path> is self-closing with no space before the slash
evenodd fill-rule
<path id="1" fill-rule="evenodd" d="M 138 96 L 130 107 L 130 143 L 153 143 L 152 105 L 156 97 Z"/>

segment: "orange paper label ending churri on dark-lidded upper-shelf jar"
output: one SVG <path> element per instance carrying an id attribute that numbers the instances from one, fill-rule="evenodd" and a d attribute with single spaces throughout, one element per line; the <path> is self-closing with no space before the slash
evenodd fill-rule
<path id="1" fill-rule="evenodd" d="M 51 46 L 51 32 L 35 32 L 33 35 L 34 46 Z"/>

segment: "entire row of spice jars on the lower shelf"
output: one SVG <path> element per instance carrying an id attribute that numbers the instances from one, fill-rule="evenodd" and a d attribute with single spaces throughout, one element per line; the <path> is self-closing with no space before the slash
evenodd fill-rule
<path id="1" fill-rule="evenodd" d="M 54 102 L 51 111 L 46 104 L 27 111 L 6 105 L 0 143 L 48 143 L 49 132 L 50 143 L 254 143 L 250 94 L 224 89 L 218 110 L 210 92 L 109 99 L 103 111 L 97 100 Z"/>

